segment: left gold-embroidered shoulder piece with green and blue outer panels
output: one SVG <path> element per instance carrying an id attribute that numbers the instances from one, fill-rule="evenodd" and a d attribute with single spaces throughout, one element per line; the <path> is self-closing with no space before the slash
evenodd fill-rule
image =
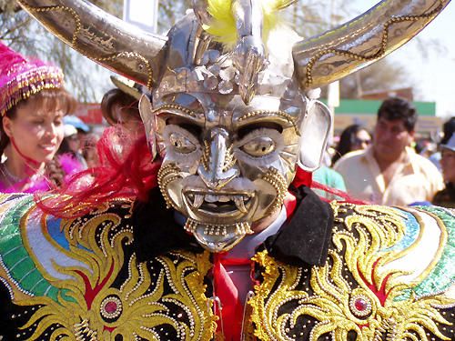
<path id="1" fill-rule="evenodd" d="M 3 199 L 0 286 L 10 299 L 0 297 L 0 322 L 9 327 L 0 336 L 107 341 L 214 334 L 204 285 L 208 254 L 182 251 L 138 263 L 130 201 L 62 220 L 45 215 L 31 196 Z"/>

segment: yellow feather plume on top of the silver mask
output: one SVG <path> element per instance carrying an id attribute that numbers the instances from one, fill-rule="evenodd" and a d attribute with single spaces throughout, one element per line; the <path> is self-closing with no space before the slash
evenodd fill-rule
<path id="1" fill-rule="evenodd" d="M 296 0 L 261 0 L 263 13 L 262 36 L 267 41 L 268 33 L 277 25 L 280 9 L 291 5 Z M 212 22 L 204 29 L 215 36 L 215 40 L 225 45 L 234 45 L 238 40 L 236 20 L 232 14 L 232 0 L 207 0 L 208 13 Z"/>

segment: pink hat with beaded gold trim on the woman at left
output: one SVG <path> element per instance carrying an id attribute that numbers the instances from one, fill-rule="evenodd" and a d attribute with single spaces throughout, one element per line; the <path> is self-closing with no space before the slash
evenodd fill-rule
<path id="1" fill-rule="evenodd" d="M 62 86 L 60 68 L 39 59 L 27 60 L 0 42 L 0 115 L 30 95 Z"/>

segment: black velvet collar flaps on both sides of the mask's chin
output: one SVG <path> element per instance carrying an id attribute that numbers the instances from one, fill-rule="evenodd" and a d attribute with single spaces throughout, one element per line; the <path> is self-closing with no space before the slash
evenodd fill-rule
<path id="1" fill-rule="evenodd" d="M 278 234 L 268 237 L 265 247 L 280 262 L 293 266 L 322 265 L 327 258 L 333 225 L 331 208 L 308 187 L 292 191 L 297 197 L 296 210 Z M 133 246 L 140 262 L 171 250 L 203 251 L 196 239 L 177 224 L 174 211 L 166 208 L 158 188 L 151 191 L 147 203 L 135 203 L 133 224 Z"/>

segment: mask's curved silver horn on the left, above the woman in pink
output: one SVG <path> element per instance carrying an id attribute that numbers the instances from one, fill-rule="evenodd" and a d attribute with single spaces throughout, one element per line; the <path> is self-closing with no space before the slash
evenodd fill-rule
<path id="1" fill-rule="evenodd" d="M 18 3 L 80 54 L 151 88 L 166 37 L 147 34 L 85 0 L 18 0 Z"/>

